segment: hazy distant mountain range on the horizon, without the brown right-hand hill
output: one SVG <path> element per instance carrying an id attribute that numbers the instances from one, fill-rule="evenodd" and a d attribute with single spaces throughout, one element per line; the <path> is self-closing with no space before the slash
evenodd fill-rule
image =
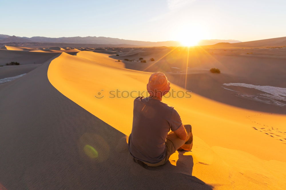
<path id="1" fill-rule="evenodd" d="M 164 42 L 146 42 L 135 40 L 124 40 L 119 38 L 110 37 L 61 37 L 61 38 L 48 38 L 48 37 L 17 37 L 0 34 L 0 43 L 25 43 L 25 42 L 37 42 L 37 43 L 71 43 L 71 44 L 108 44 L 108 45 L 134 45 L 142 47 L 160 47 L 160 46 L 180 46 L 178 41 L 164 41 Z M 201 40 L 198 45 L 213 45 L 220 42 L 237 43 L 237 40 Z"/>

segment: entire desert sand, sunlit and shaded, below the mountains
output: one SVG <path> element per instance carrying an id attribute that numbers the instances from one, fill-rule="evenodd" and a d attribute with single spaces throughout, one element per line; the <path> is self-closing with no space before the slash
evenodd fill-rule
<path id="1" fill-rule="evenodd" d="M 0 84 L 0 187 L 285 189 L 286 112 L 279 105 L 284 101 L 275 99 L 279 94 L 272 94 L 268 103 L 247 99 L 238 95 L 263 91 L 234 86 L 283 90 L 284 49 L 193 49 L 189 56 L 184 48 L 79 50 L 74 55 L 1 50 L 19 53 L 22 62 L 29 56 L 21 52 L 51 57 Z M 147 62 L 137 62 L 140 57 Z M 7 70 L 3 73 L 9 67 L 2 67 Z M 222 73 L 209 73 L 211 67 Z M 155 71 L 167 74 L 172 89 L 192 90 L 191 98 L 163 102 L 192 125 L 194 146 L 174 153 L 164 166 L 144 169 L 133 162 L 126 142 L 134 98 L 108 96 L 116 89 L 146 90 Z"/>

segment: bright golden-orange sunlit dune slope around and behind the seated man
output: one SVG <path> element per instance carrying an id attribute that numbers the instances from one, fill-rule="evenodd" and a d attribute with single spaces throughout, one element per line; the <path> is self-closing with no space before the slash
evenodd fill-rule
<path id="1" fill-rule="evenodd" d="M 150 73 L 98 64 L 97 53 L 90 53 L 92 60 L 88 60 L 91 54 L 62 53 L 49 66 L 49 81 L 76 104 L 129 135 L 134 98 L 108 98 L 108 92 L 143 91 Z M 102 54 L 97 56 L 102 61 Z M 106 61 L 113 62 L 113 59 Z M 183 90 L 174 84 L 172 88 Z M 95 95 L 105 97 L 97 99 Z M 182 156 L 188 156 L 189 161 L 193 159 L 193 167 L 186 166 L 180 173 L 192 174 L 216 189 L 285 187 L 286 128 L 281 125 L 286 122 L 285 115 L 232 107 L 194 93 L 190 99 L 166 98 L 164 102 L 176 108 L 184 123 L 193 126 L 193 151 L 184 155 L 175 153 L 170 158 L 170 163 L 176 166 L 187 162 L 180 161 Z"/>

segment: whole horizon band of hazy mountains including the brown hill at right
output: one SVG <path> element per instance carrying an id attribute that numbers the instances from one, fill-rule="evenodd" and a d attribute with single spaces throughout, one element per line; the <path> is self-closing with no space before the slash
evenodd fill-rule
<path id="1" fill-rule="evenodd" d="M 0 45 L 25 45 L 25 46 L 45 46 L 45 45 L 73 45 L 73 46 L 94 46 L 94 47 L 162 47 L 181 46 L 178 41 L 145 42 L 135 40 L 124 40 L 109 37 L 17 37 L 0 34 Z M 279 47 L 286 46 L 286 37 L 241 42 L 238 40 L 201 40 L 198 45 L 206 47 Z"/>

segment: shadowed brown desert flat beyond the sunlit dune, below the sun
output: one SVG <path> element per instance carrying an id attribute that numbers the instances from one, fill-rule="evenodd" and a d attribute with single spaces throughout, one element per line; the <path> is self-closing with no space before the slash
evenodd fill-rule
<path id="1" fill-rule="evenodd" d="M 232 92 L 223 88 L 223 84 L 245 83 L 286 88 L 285 50 L 272 48 L 190 48 L 188 53 L 188 48 L 165 48 L 147 56 L 138 53 L 135 56 L 121 56 L 120 54 L 120 56 L 112 55 L 110 57 L 122 60 L 125 67 L 129 69 L 164 72 L 171 82 L 183 88 L 185 87 L 185 73 L 187 71 L 186 88 L 192 92 L 241 108 L 284 114 L 285 108 L 283 107 L 261 104 L 243 99 L 243 96 L 236 96 L 239 92 L 240 94 L 256 96 L 256 94 L 261 93 L 260 91 L 231 87 L 231 89 L 238 91 Z M 247 54 L 249 52 L 253 52 L 253 54 Z M 136 60 L 140 57 L 147 62 L 138 63 Z M 150 57 L 153 57 L 155 61 L 150 61 Z M 134 59 L 135 62 L 124 61 L 125 58 Z M 209 69 L 213 67 L 219 68 L 221 74 L 211 74 Z"/>

